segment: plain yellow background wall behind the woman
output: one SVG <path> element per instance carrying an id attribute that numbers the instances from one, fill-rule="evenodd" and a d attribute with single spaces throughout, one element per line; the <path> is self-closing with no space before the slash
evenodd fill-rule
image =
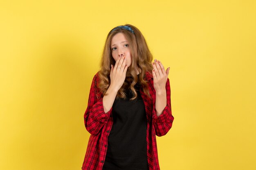
<path id="1" fill-rule="evenodd" d="M 161 170 L 255 170 L 254 0 L 1 0 L 0 169 L 81 169 L 91 81 L 121 24 L 171 68 Z"/>

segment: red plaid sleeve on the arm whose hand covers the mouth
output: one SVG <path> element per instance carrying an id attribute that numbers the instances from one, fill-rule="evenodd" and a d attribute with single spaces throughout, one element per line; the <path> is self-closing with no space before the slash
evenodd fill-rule
<path id="1" fill-rule="evenodd" d="M 97 135 L 104 124 L 108 121 L 110 117 L 110 113 L 112 112 L 111 109 L 105 113 L 103 108 L 103 98 L 97 98 L 97 77 L 94 75 L 92 79 L 92 85 L 90 88 L 90 94 L 88 99 L 88 106 L 84 113 L 84 124 L 86 130 L 92 134 Z"/>

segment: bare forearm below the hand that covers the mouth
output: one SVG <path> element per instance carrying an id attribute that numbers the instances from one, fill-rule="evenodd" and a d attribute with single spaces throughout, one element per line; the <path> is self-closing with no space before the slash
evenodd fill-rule
<path id="1" fill-rule="evenodd" d="M 108 87 L 108 90 L 106 92 L 106 96 L 103 97 L 102 99 L 102 102 L 103 102 L 103 108 L 104 108 L 104 112 L 107 113 L 108 111 L 110 111 L 114 101 L 115 101 L 115 98 L 117 96 L 117 90 L 112 88 L 112 86 L 110 85 Z"/>

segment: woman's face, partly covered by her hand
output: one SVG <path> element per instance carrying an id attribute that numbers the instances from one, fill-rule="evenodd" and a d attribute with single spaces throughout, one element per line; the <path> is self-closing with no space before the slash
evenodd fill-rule
<path id="1" fill-rule="evenodd" d="M 129 67 L 132 64 L 130 52 L 130 44 L 128 43 L 124 33 L 117 33 L 111 40 L 110 44 L 112 57 L 117 61 L 121 54 L 126 57 L 126 64 Z"/>

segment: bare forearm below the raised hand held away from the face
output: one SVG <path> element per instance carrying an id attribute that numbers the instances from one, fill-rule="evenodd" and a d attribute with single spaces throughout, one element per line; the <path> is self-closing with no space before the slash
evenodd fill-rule
<path id="1" fill-rule="evenodd" d="M 164 111 L 164 108 L 166 107 L 166 91 L 165 89 L 162 92 L 156 93 L 156 99 L 155 99 L 155 109 L 157 117 L 162 114 Z"/>

